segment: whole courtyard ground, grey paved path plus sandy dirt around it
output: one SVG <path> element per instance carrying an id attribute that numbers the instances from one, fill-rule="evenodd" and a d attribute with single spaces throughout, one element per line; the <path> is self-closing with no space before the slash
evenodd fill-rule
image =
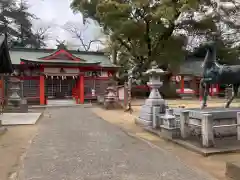
<path id="1" fill-rule="evenodd" d="M 210 100 L 209 106 L 223 101 Z M 240 160 L 240 154 L 202 157 L 144 131 L 134 123 L 142 103 L 133 101 L 131 115 L 95 106 L 49 108 L 36 125 L 9 127 L 0 136 L 6 162 L 0 179 L 226 180 L 226 162 Z M 168 104 L 198 107 L 199 101 Z"/>

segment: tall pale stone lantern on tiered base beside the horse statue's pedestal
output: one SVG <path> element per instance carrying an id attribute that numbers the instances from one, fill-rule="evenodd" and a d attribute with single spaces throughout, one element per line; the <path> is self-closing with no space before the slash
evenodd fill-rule
<path id="1" fill-rule="evenodd" d="M 166 74 L 166 71 L 153 67 L 145 72 L 145 75 L 149 76 L 149 82 L 147 85 L 151 88 L 150 95 L 146 99 L 145 104 L 142 106 L 140 115 L 136 119 L 136 123 L 144 126 L 152 126 L 153 122 L 153 107 L 160 107 L 161 114 L 165 113 L 166 105 L 165 100 L 160 95 L 158 89 L 162 86 L 160 77 Z"/>

